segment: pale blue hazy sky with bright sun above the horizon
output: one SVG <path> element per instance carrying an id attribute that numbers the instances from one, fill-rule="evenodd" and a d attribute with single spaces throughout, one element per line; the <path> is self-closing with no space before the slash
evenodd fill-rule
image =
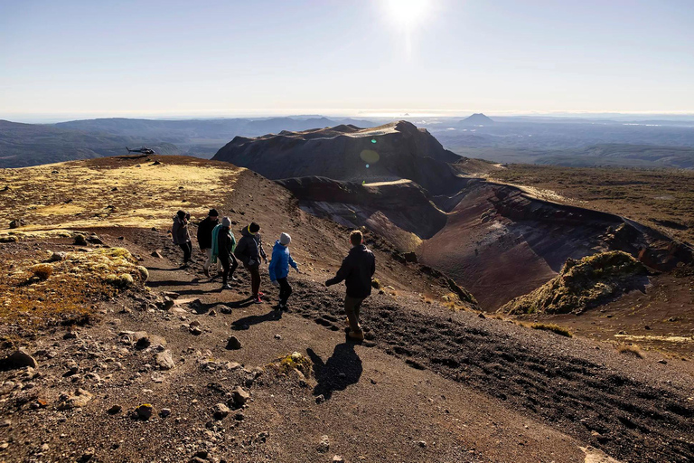
<path id="1" fill-rule="evenodd" d="M 0 118 L 694 113 L 691 0 L 0 0 Z"/>

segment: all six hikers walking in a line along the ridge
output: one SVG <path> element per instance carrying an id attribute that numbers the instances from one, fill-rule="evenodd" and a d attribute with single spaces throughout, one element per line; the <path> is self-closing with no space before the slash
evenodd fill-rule
<path id="1" fill-rule="evenodd" d="M 192 241 L 188 230 L 191 215 L 179 211 L 174 216 L 172 238 L 183 250 L 183 267 L 192 260 Z M 239 267 L 239 261 L 250 275 L 251 299 L 256 304 L 263 303 L 265 296 L 260 291 L 261 261 L 268 264 L 267 254 L 263 249 L 260 237 L 260 225 L 251 222 L 241 229 L 241 237 L 236 241 L 231 231 L 229 217 L 220 221 L 219 213 L 211 209 L 207 217 L 198 225 L 198 245 L 205 256 L 202 271 L 208 278 L 215 278 L 221 273 L 221 289 L 229 289 L 230 281 L 237 281 L 234 272 Z M 289 252 L 292 242 L 288 233 L 281 233 L 272 248 L 268 272 L 270 281 L 279 288 L 279 304 L 277 310 L 286 310 L 292 287 L 287 277 L 289 268 L 299 272 L 299 266 Z M 333 279 L 325 281 L 325 286 L 332 286 L 344 281 L 347 292 L 344 298 L 344 311 L 349 326 L 348 335 L 356 340 L 364 338 L 360 323 L 361 303 L 371 294 L 371 277 L 376 271 L 376 260 L 373 253 L 363 244 L 361 231 L 350 234 L 352 249 L 342 260 L 342 266 Z M 299 272 L 300 273 L 300 272 Z"/>

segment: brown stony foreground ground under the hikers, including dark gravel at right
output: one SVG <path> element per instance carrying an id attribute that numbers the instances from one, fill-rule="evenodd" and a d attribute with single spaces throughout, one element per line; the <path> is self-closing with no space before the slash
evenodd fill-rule
<path id="1" fill-rule="evenodd" d="M 222 292 L 197 264 L 179 268 L 164 233 L 99 236 L 141 256 L 151 290 L 99 303 L 83 326 L 7 336 L 6 353 L 22 345 L 37 365 L 0 373 L 6 461 L 694 457 L 688 363 L 625 356 L 403 290 L 367 302 L 367 340 L 355 345 L 342 332 L 342 288 L 322 286 L 336 264 L 295 276 L 290 310 L 277 313 L 267 278 L 267 303 L 250 305 L 242 270 Z M 149 255 L 156 249 L 161 259 Z M 277 362 L 294 352 L 313 365 L 305 373 Z"/>

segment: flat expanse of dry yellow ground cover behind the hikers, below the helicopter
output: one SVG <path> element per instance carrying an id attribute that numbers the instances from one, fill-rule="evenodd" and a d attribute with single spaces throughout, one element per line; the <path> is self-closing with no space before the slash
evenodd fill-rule
<path id="1" fill-rule="evenodd" d="M 110 163 L 110 164 L 107 164 Z M 120 163 L 120 164 L 118 164 Z M 176 209 L 193 216 L 230 192 L 243 169 L 233 165 L 93 160 L 0 169 L 0 229 L 16 218 L 21 231 L 98 226 L 168 226 Z M 190 203 L 198 207 L 189 207 Z"/>

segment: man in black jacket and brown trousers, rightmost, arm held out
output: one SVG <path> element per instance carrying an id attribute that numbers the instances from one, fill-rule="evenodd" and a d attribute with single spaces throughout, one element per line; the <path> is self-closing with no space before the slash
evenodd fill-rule
<path id="1" fill-rule="evenodd" d="M 376 271 L 376 258 L 373 252 L 363 244 L 364 236 L 361 231 L 350 233 L 352 250 L 342 260 L 342 267 L 337 270 L 333 279 L 325 281 L 325 286 L 332 286 L 344 280 L 347 294 L 344 298 L 344 312 L 347 314 L 347 322 L 350 325 L 349 337 L 357 341 L 363 341 L 364 332 L 359 323 L 361 303 L 371 294 L 371 277 Z"/>

